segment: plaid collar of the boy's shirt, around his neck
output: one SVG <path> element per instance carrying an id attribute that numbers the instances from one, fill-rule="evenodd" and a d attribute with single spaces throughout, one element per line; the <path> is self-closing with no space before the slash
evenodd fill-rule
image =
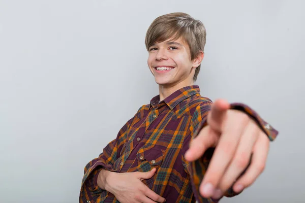
<path id="1" fill-rule="evenodd" d="M 164 103 L 171 109 L 173 110 L 177 104 L 179 104 L 181 101 L 185 100 L 186 98 L 189 98 L 190 96 L 194 94 L 199 94 L 200 93 L 200 88 L 198 85 L 192 85 L 192 86 L 187 86 L 183 87 L 181 89 L 178 89 L 168 97 L 166 97 L 163 101 Z M 150 106 L 153 108 L 160 108 L 164 104 L 161 102 L 159 104 L 160 100 L 160 95 L 155 96 L 150 100 Z"/>

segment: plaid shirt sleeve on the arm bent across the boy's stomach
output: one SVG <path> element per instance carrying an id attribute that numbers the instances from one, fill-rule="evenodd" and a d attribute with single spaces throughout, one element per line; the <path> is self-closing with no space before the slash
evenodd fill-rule
<path id="1" fill-rule="evenodd" d="M 97 199 L 102 192 L 106 192 L 99 188 L 97 184 L 98 174 L 102 169 L 115 172 L 113 164 L 119 157 L 119 154 L 127 140 L 128 129 L 132 123 L 130 119 L 118 132 L 115 140 L 111 141 L 99 155 L 86 164 L 84 168 L 84 176 L 81 183 L 79 202 L 87 202 L 89 199 Z"/>

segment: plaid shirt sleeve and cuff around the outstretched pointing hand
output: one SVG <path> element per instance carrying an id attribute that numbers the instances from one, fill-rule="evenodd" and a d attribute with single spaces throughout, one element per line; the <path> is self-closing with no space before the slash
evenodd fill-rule
<path id="1" fill-rule="evenodd" d="M 233 103 L 230 105 L 230 109 L 232 110 L 239 110 L 244 113 L 246 113 L 248 116 L 250 116 L 254 121 L 259 125 L 259 127 L 266 133 L 266 136 L 268 136 L 270 141 L 273 141 L 276 139 L 278 135 L 278 131 L 274 129 L 269 123 L 264 121 L 253 109 L 251 109 L 249 106 L 241 104 L 241 103 Z M 207 114 L 211 110 L 211 103 L 203 103 L 202 105 L 198 106 L 196 108 L 196 111 L 192 117 L 190 131 L 191 131 L 191 139 L 194 139 L 199 131 L 207 125 L 206 119 Z M 193 192 L 195 195 L 195 198 L 199 203 L 202 202 L 218 202 L 217 199 L 212 198 L 204 198 L 199 194 L 199 186 L 200 183 L 204 177 L 204 174 L 207 170 L 209 161 L 212 157 L 212 154 L 214 153 L 214 148 L 208 149 L 201 158 L 198 160 L 192 161 L 190 163 L 185 163 L 185 165 L 188 165 L 187 170 L 190 174 L 191 183 Z M 246 171 L 246 170 L 245 170 Z M 224 196 L 232 197 L 237 195 L 238 193 L 235 193 L 232 189 L 232 187 L 225 193 Z"/>

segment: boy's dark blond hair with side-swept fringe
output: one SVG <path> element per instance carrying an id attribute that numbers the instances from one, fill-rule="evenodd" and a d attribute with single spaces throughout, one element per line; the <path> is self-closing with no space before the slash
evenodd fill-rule
<path id="1" fill-rule="evenodd" d="M 180 37 L 190 47 L 191 60 L 196 58 L 200 51 L 203 52 L 206 37 L 205 27 L 200 20 L 195 20 L 186 13 L 170 13 L 156 18 L 146 32 L 145 46 L 148 50 L 155 43 L 169 39 L 177 40 Z M 194 81 L 197 80 L 200 66 L 195 70 Z"/>

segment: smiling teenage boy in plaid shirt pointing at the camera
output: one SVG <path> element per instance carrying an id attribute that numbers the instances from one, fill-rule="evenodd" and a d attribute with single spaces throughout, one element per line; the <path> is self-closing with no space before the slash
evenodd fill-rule
<path id="1" fill-rule="evenodd" d="M 145 45 L 159 95 L 85 166 L 80 202 L 218 202 L 262 173 L 278 131 L 246 105 L 200 95 L 205 36 L 185 13 L 151 23 Z"/>

